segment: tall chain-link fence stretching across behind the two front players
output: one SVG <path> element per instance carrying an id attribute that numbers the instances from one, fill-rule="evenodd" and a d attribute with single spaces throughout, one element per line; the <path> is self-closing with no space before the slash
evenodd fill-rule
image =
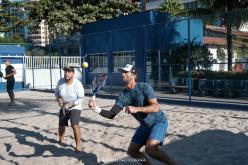
<path id="1" fill-rule="evenodd" d="M 235 26 L 234 18 L 240 12 L 247 11 L 170 19 L 81 35 L 78 40 L 58 40 L 44 51 L 28 49 L 24 64 L 32 76 L 25 74 L 26 84 L 40 89 L 41 78 L 50 77 L 45 86 L 53 90 L 63 76 L 61 68 L 71 64 L 80 69 L 79 78 L 86 88 L 93 77 L 107 74 L 103 92 L 113 94 L 122 88 L 118 68 L 130 63 L 137 67 L 139 80 L 151 83 L 161 96 L 248 103 L 248 24 Z M 231 28 L 227 18 L 233 20 Z M 83 61 L 89 63 L 88 69 L 82 70 Z M 38 71 L 42 69 L 49 73 L 41 76 Z"/>

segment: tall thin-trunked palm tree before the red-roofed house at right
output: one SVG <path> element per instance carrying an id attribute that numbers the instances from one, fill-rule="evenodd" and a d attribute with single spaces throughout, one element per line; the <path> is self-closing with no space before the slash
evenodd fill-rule
<path id="1" fill-rule="evenodd" d="M 227 35 L 227 56 L 228 70 L 232 70 L 232 27 L 240 28 L 248 22 L 248 0 L 197 0 L 200 7 L 197 9 L 188 9 L 180 15 L 203 16 L 213 15 L 221 18 L 222 26 L 226 27 Z M 222 13 L 222 14 L 220 14 Z M 209 17 L 210 18 L 210 17 Z"/>

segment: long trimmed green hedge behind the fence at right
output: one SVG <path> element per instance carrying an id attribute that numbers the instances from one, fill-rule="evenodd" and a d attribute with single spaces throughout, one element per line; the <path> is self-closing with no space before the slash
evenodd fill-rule
<path id="1" fill-rule="evenodd" d="M 177 74 L 178 77 L 188 77 L 187 71 L 182 71 Z M 248 80 L 248 71 L 245 72 L 232 72 L 232 71 L 206 71 L 197 70 L 191 72 L 192 78 L 198 79 L 235 79 L 235 80 Z"/>

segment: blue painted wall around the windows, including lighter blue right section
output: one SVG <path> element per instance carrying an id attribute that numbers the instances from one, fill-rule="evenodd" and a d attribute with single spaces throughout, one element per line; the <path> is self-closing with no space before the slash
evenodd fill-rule
<path id="1" fill-rule="evenodd" d="M 115 51 L 135 50 L 135 66 L 139 81 L 145 79 L 146 50 L 167 51 L 173 45 L 188 40 L 188 21 L 169 22 L 168 14 L 154 11 L 120 16 L 109 20 L 89 23 L 81 30 L 81 56 L 107 53 L 109 55 L 109 72 L 111 73 L 111 53 Z M 203 41 L 203 24 L 201 20 L 190 21 L 190 39 Z M 112 74 L 112 85 L 119 85 L 120 75 Z M 90 83 L 92 75 L 86 72 L 86 82 Z"/>

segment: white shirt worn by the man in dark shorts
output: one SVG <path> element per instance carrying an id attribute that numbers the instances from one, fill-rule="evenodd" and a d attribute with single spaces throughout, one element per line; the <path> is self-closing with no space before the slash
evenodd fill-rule
<path id="1" fill-rule="evenodd" d="M 77 79 L 73 79 L 72 84 L 68 85 L 65 83 L 65 79 L 62 78 L 57 83 L 55 97 L 62 98 L 65 103 L 74 102 L 76 106 L 71 109 L 81 110 L 84 98 L 84 87 Z"/>

